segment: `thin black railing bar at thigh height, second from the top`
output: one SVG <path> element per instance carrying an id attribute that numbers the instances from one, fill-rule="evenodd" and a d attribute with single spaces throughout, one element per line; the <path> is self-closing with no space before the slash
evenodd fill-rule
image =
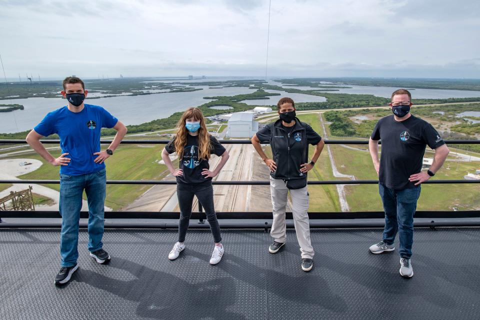
<path id="1" fill-rule="evenodd" d="M 0 180 L 0 183 L 43 183 L 59 184 L 60 180 Z M 378 180 L 324 180 L 308 181 L 310 185 L 316 184 L 378 184 Z M 453 184 L 453 183 L 480 183 L 480 180 L 428 180 L 422 184 Z M 107 180 L 106 184 L 176 184 L 175 180 Z M 212 181 L 217 185 L 269 185 L 270 181 Z"/>

